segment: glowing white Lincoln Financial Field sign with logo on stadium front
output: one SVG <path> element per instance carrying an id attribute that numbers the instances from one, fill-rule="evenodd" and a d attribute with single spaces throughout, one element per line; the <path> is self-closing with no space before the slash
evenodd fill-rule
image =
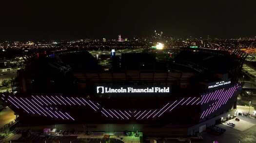
<path id="1" fill-rule="evenodd" d="M 97 86 L 97 94 L 115 94 L 115 93 L 170 93 L 170 87 L 104 87 Z"/>

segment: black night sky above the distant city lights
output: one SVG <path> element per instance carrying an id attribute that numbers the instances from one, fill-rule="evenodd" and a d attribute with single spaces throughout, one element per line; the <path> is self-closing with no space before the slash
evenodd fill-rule
<path id="1" fill-rule="evenodd" d="M 1 0 L 0 40 L 256 36 L 256 0 Z"/>

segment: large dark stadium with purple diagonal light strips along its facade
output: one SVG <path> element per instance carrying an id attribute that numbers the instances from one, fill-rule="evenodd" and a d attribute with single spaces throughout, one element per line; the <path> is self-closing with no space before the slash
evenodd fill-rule
<path id="1" fill-rule="evenodd" d="M 113 52 L 113 51 L 112 51 Z M 2 94 L 20 127 L 143 135 L 195 135 L 234 118 L 246 54 L 181 48 L 109 53 L 106 66 L 86 50 L 24 56 L 26 67 Z M 102 56 L 103 59 L 103 56 Z"/>

